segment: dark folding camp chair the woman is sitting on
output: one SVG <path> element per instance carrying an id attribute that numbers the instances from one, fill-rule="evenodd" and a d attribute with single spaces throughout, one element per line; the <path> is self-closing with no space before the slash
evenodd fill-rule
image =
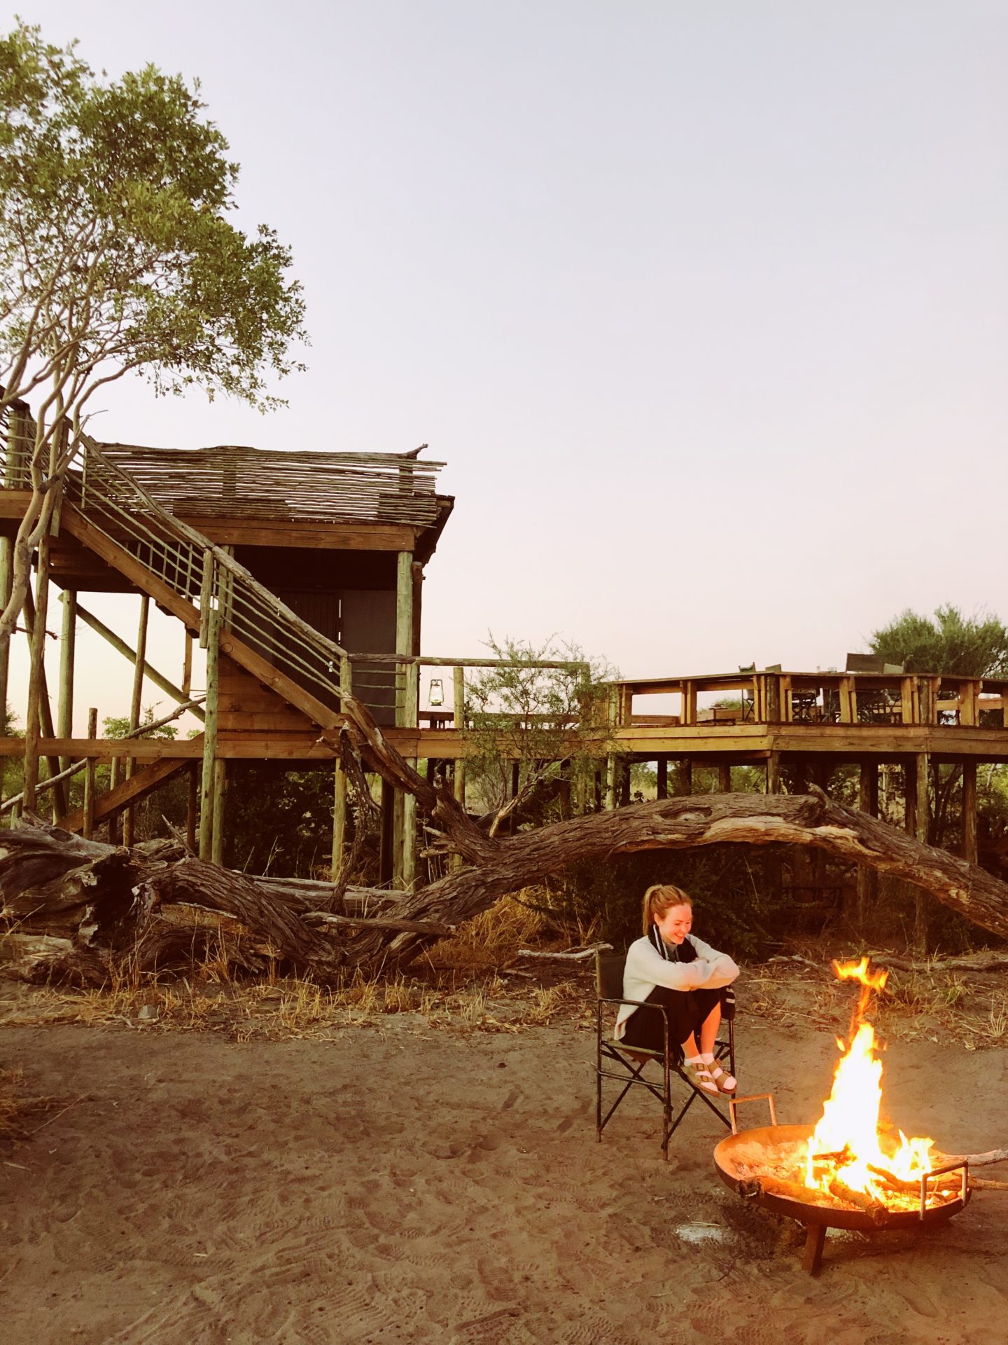
<path id="1" fill-rule="evenodd" d="M 612 1036 L 616 1010 L 621 1005 L 634 1005 L 637 1007 L 637 1013 L 660 1013 L 665 1020 L 665 1026 L 668 1026 L 668 1014 L 663 1005 L 649 1005 L 640 999 L 624 998 L 625 962 L 625 952 L 610 956 L 603 956 L 598 952 L 595 954 L 595 986 L 598 993 L 595 1002 L 595 1130 L 601 1141 L 602 1131 L 607 1126 L 609 1119 L 630 1089 L 634 1085 L 646 1088 L 648 1092 L 661 1103 L 661 1154 L 665 1161 L 668 1161 L 668 1142 L 698 1098 L 711 1108 L 714 1115 L 718 1116 L 728 1130 L 731 1130 L 731 1120 L 727 1112 L 718 1107 L 716 1103 L 707 1096 L 707 1093 L 702 1092 L 699 1088 L 694 1088 L 689 1083 L 687 1076 L 683 1073 L 681 1053 L 675 1044 L 672 1044 L 671 1049 L 667 1046 L 665 1050 L 645 1050 L 641 1046 L 626 1046 L 622 1041 Z M 720 1061 L 727 1059 L 728 1073 L 734 1075 L 735 993 L 731 986 L 726 986 L 722 991 L 720 1024 L 720 1032 L 718 1034 L 718 1041 L 715 1042 L 714 1054 L 715 1059 Z M 668 1032 L 665 1032 L 665 1041 L 668 1042 Z M 657 1081 L 644 1077 L 644 1069 L 652 1060 L 661 1067 L 660 1085 Z M 618 1067 L 618 1072 L 612 1067 Z M 673 1119 L 672 1080 L 676 1077 L 687 1089 L 688 1096 Z M 605 1116 L 602 1115 L 603 1079 L 613 1079 L 616 1083 L 622 1084 L 618 1098 Z"/>

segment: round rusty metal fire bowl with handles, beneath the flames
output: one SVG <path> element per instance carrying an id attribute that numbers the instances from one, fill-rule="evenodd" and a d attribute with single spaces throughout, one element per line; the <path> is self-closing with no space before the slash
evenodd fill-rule
<path id="1" fill-rule="evenodd" d="M 754 1130 L 739 1130 L 735 1110 L 743 1102 L 766 1100 L 770 1108 L 770 1124 Z M 823 1245 L 825 1243 L 827 1228 L 849 1228 L 862 1232 L 888 1228 L 915 1228 L 921 1224 L 939 1224 L 952 1219 L 969 1201 L 969 1165 L 966 1162 L 950 1163 L 948 1167 L 938 1167 L 921 1180 L 921 1204 L 913 1209 L 845 1209 L 839 1204 L 828 1201 L 817 1202 L 816 1192 L 808 1190 L 802 1194 L 802 1188 L 797 1182 L 782 1184 L 786 1193 L 763 1189 L 758 1171 L 754 1171 L 754 1158 L 786 1149 L 800 1149 L 812 1135 L 812 1126 L 778 1126 L 773 1096 L 770 1093 L 754 1093 L 750 1098 L 731 1099 L 731 1135 L 722 1139 L 714 1150 L 714 1165 L 718 1176 L 726 1185 L 747 1200 L 755 1200 L 763 1209 L 775 1215 L 785 1215 L 804 1224 L 808 1229 L 805 1237 L 805 1254 L 802 1256 L 802 1270 L 809 1275 L 817 1275 L 823 1262 Z M 946 1173 L 960 1171 L 962 1182 L 960 1193 L 953 1200 L 941 1205 L 927 1205 L 930 1182 Z M 770 1180 L 767 1186 L 770 1186 Z"/>

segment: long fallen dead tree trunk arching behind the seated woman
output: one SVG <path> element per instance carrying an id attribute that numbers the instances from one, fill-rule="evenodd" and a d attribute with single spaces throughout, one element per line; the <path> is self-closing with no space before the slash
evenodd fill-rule
<path id="1" fill-rule="evenodd" d="M 24 931 L 70 932 L 75 950 L 142 951 L 156 950 L 169 911 L 198 908 L 234 920 L 263 955 L 331 981 L 348 968 L 402 967 L 500 896 L 582 859 L 726 843 L 812 845 L 905 878 L 974 924 L 1008 936 L 1007 884 L 833 803 L 820 790 L 663 799 L 489 838 L 450 795 L 417 780 L 431 816 L 444 823 L 444 847 L 464 854 L 468 863 L 384 905 L 374 919 L 305 911 L 301 900 L 284 900 L 276 881 L 202 863 L 172 842 L 114 849 L 38 822 L 3 839 L 0 913 Z"/>

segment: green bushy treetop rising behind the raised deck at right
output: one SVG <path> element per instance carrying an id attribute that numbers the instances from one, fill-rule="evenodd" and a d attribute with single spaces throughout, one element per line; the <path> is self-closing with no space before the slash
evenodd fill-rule
<path id="1" fill-rule="evenodd" d="M 907 672 L 1008 677 L 1008 628 L 996 616 L 968 617 L 952 604 L 935 608 L 933 620 L 907 608 L 874 631 L 870 646 Z"/>

